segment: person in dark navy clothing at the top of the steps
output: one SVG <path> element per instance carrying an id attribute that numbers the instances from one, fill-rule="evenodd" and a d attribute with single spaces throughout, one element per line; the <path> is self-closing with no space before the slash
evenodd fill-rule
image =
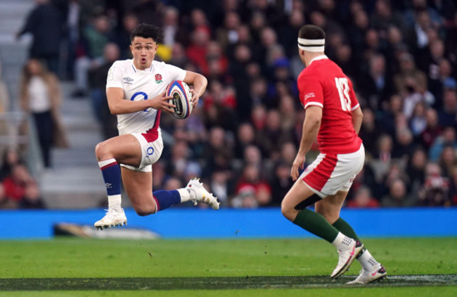
<path id="1" fill-rule="evenodd" d="M 25 33 L 33 36 L 30 58 L 43 59 L 46 67 L 54 74 L 59 70 L 60 40 L 63 33 L 63 19 L 58 9 L 49 0 L 34 0 L 36 6 L 27 16 L 19 38 Z"/>

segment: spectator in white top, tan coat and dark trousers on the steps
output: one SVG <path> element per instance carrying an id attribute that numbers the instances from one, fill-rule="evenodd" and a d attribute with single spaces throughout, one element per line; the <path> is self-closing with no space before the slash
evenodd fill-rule
<path id="1" fill-rule="evenodd" d="M 46 168 L 52 165 L 51 147 L 68 146 L 60 120 L 61 103 L 62 94 L 56 75 L 48 72 L 38 60 L 27 61 L 22 70 L 20 106 L 33 117 Z"/>

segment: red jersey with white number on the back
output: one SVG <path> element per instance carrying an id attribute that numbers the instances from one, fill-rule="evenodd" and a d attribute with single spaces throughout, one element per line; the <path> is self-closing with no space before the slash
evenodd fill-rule
<path id="1" fill-rule="evenodd" d="M 352 126 L 352 111 L 359 107 L 352 82 L 327 56 L 314 58 L 297 80 L 300 101 L 322 108 L 317 141 L 321 153 L 354 153 L 362 140 Z"/>

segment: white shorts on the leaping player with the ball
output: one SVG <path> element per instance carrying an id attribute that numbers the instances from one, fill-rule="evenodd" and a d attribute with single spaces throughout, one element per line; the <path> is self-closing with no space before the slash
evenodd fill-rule
<path id="1" fill-rule="evenodd" d="M 140 172 L 152 172 L 153 164 L 159 160 L 160 155 L 163 151 L 163 141 L 162 141 L 162 132 L 158 132 L 158 137 L 154 141 L 148 142 L 143 134 L 141 133 L 132 133 L 136 139 L 138 139 L 141 146 L 141 163 L 138 168 L 121 164 L 122 167 L 128 168 L 130 170 L 140 171 Z"/>

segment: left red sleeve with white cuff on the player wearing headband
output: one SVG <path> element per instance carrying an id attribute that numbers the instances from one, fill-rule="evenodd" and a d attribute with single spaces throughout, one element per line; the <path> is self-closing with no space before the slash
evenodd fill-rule
<path id="1" fill-rule="evenodd" d="M 297 81 L 300 91 L 300 102 L 304 109 L 308 106 L 319 106 L 323 108 L 322 82 L 313 75 L 300 75 Z"/>

